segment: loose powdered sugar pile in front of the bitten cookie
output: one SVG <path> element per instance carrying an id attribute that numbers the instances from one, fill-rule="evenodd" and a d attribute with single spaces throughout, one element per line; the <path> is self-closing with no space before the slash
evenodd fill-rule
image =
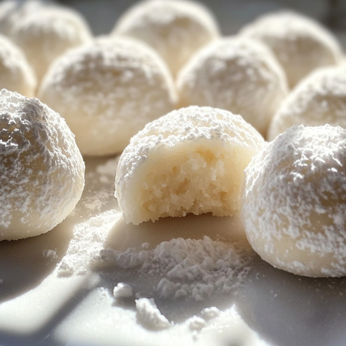
<path id="1" fill-rule="evenodd" d="M 94 267 L 138 268 L 140 276 L 161 278 L 154 291 L 161 298 L 203 300 L 214 293 L 229 293 L 249 271 L 253 252 L 245 243 L 227 244 L 203 239 L 171 239 L 152 250 L 124 252 L 102 249 L 92 259 Z"/>

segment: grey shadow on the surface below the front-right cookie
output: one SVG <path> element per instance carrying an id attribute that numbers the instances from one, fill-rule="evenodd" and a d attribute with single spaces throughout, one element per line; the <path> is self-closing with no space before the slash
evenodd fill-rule
<path id="1" fill-rule="evenodd" d="M 345 345 L 346 277 L 312 278 L 257 256 L 238 296 L 244 321 L 273 345 Z"/>

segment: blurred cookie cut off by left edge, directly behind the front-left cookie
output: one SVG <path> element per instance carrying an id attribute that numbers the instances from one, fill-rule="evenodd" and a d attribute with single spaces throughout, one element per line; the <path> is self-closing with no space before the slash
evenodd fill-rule
<path id="1" fill-rule="evenodd" d="M 33 97 L 36 86 L 36 76 L 24 53 L 0 35 L 0 90 L 7 89 Z"/>

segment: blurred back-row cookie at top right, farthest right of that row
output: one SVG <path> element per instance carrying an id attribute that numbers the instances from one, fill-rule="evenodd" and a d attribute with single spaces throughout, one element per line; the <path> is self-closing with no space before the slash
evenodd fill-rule
<path id="1" fill-rule="evenodd" d="M 318 22 L 290 11 L 264 15 L 240 31 L 272 48 L 291 88 L 319 66 L 342 60 L 342 48 Z"/>

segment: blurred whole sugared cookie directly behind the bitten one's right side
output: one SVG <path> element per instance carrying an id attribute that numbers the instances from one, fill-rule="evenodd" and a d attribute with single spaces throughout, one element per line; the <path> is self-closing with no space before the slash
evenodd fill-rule
<path id="1" fill-rule="evenodd" d="M 288 94 L 285 73 L 270 49 L 247 38 L 222 38 L 202 48 L 176 85 L 180 107 L 227 109 L 263 135 Z"/>

